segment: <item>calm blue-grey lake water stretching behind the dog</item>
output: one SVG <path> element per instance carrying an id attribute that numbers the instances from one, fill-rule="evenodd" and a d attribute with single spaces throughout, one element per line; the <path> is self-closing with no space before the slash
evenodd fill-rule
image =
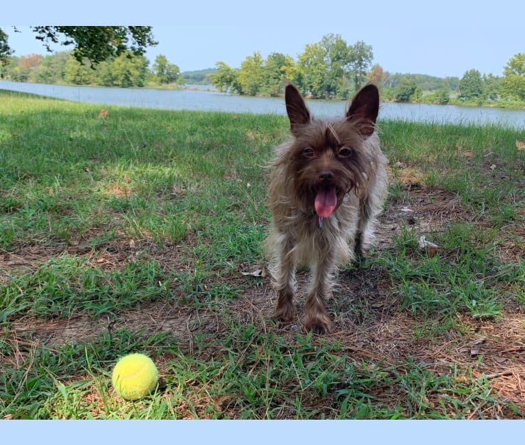
<path id="1" fill-rule="evenodd" d="M 188 86 L 189 87 L 189 86 Z M 232 113 L 286 114 L 284 99 L 278 97 L 247 97 L 202 89 L 157 90 L 154 88 L 106 88 L 62 86 L 0 81 L 0 89 L 41 94 L 69 101 L 97 103 L 101 106 L 121 105 L 165 110 L 200 110 Z M 337 116 L 345 110 L 344 101 L 309 100 L 314 116 Z M 382 103 L 380 118 L 437 123 L 498 123 L 525 129 L 525 110 L 504 110 L 490 107 L 428 105 L 419 103 Z"/>

